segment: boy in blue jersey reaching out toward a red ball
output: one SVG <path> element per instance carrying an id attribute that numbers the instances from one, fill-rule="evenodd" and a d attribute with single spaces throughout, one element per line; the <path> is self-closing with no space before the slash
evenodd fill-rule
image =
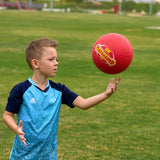
<path id="1" fill-rule="evenodd" d="M 32 41 L 26 48 L 26 61 L 33 76 L 17 84 L 8 98 L 3 120 L 15 132 L 11 160 L 51 160 L 57 158 L 57 127 L 61 104 L 88 109 L 109 98 L 121 78 L 113 79 L 104 93 L 83 99 L 65 85 L 48 77 L 57 72 L 58 43 L 48 38 Z M 18 115 L 17 124 L 14 114 Z"/>

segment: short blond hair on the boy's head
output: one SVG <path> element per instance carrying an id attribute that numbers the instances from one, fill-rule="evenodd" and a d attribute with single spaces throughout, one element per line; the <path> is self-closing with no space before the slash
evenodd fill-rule
<path id="1" fill-rule="evenodd" d="M 56 48 L 58 42 L 55 40 L 51 40 L 49 38 L 39 38 L 32 41 L 26 47 L 26 61 L 30 68 L 32 69 L 31 61 L 33 59 L 40 59 L 45 47 L 53 47 Z"/>

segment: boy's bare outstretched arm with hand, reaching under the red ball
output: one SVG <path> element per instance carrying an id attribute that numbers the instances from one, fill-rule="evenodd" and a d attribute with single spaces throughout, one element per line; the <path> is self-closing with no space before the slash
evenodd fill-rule
<path id="1" fill-rule="evenodd" d="M 81 109 L 89 109 L 89 108 L 101 103 L 102 101 L 109 98 L 117 90 L 117 87 L 118 87 L 120 80 L 121 80 L 121 78 L 116 78 L 116 82 L 114 84 L 113 83 L 114 79 L 111 78 L 110 83 L 109 83 L 107 90 L 105 92 L 98 94 L 96 96 L 93 96 L 93 97 L 89 97 L 87 99 L 84 99 L 81 96 L 78 96 L 73 101 L 73 105 L 77 106 Z"/>

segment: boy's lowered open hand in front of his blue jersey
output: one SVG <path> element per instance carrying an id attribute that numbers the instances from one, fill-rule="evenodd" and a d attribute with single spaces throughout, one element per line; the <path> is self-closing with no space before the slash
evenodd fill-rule
<path id="1" fill-rule="evenodd" d="M 19 125 L 18 125 L 18 127 L 17 127 L 17 132 L 16 132 L 16 134 L 17 134 L 17 136 L 19 137 L 19 139 L 21 140 L 21 142 L 25 145 L 25 146 L 27 146 L 27 143 L 26 143 L 26 138 L 24 138 L 24 135 L 25 135 L 25 133 L 23 132 L 23 122 L 20 120 L 20 122 L 19 122 Z"/>

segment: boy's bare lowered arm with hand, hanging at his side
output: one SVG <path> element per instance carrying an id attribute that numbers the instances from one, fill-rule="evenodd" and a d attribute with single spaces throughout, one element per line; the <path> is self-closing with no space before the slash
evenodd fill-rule
<path id="1" fill-rule="evenodd" d="M 13 132 L 15 132 L 18 135 L 22 143 L 25 146 L 27 146 L 26 138 L 24 138 L 25 133 L 23 132 L 22 121 L 20 121 L 19 125 L 17 126 L 13 117 L 13 113 L 5 111 L 3 114 L 3 121 L 8 126 L 8 128 L 10 128 Z"/>

